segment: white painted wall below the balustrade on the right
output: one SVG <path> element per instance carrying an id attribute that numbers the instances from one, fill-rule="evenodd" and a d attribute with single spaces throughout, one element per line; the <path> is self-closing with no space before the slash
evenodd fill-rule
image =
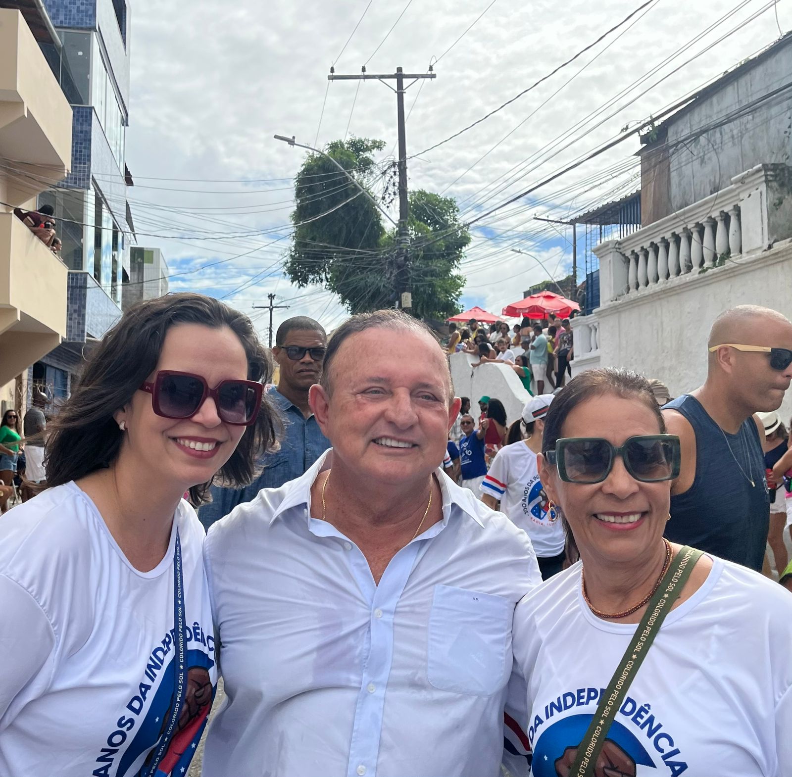
<path id="1" fill-rule="evenodd" d="M 710 326 L 723 310 L 763 305 L 792 319 L 792 240 L 743 255 L 739 261 L 739 265 L 727 261 L 701 275 L 679 276 L 652 291 L 600 307 L 596 310 L 599 360 L 594 360 L 599 364 L 590 366 L 630 368 L 660 379 L 672 397 L 699 387 L 706 378 Z M 577 321 L 577 326 L 584 321 Z M 584 367 L 583 360 L 579 366 Z M 792 390 L 779 412 L 787 424 Z"/>

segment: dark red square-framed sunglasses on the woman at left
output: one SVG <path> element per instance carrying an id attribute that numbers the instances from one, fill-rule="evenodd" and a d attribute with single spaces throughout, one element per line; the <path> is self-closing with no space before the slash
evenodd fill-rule
<path id="1" fill-rule="evenodd" d="M 151 394 L 151 407 L 163 418 L 192 418 L 211 397 L 220 421 L 249 426 L 258 417 L 264 387 L 253 380 L 223 380 L 211 389 L 200 375 L 160 370 L 154 381 L 143 383 L 140 390 Z"/>

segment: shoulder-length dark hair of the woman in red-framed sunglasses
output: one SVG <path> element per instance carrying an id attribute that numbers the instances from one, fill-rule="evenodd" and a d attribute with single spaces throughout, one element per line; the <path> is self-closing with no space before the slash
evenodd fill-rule
<path id="1" fill-rule="evenodd" d="M 115 461 L 124 433 L 113 413 L 128 404 L 157 367 L 166 334 L 178 324 L 227 326 L 245 349 L 248 379 L 268 383 L 272 378 L 272 357 L 258 341 L 250 319 L 238 310 L 190 292 L 137 303 L 90 352 L 78 386 L 50 427 L 48 487 L 84 478 Z M 231 487 L 249 483 L 256 474 L 256 459 L 275 443 L 279 426 L 265 395 L 256 423 L 245 429 L 215 478 Z M 198 507 L 204 501 L 209 486 L 211 482 L 190 488 L 192 505 Z"/>

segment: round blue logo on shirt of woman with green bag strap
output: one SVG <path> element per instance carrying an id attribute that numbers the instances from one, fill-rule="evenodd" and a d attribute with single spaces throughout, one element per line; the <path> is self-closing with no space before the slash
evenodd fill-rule
<path id="1" fill-rule="evenodd" d="M 527 732 L 532 777 L 565 777 L 592 721 L 604 688 L 576 688 L 534 708 Z M 594 770 L 595 777 L 677 777 L 684 754 L 652 705 L 627 696 L 619 708 Z"/>

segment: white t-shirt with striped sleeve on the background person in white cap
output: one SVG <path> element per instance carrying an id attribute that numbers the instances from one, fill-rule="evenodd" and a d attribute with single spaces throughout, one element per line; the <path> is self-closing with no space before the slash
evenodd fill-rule
<path id="1" fill-rule="evenodd" d="M 550 519 L 536 454 L 524 442 L 497 452 L 481 489 L 501 501 L 501 512 L 527 533 L 539 558 L 553 558 L 564 550 L 564 528 L 558 518 Z"/>

